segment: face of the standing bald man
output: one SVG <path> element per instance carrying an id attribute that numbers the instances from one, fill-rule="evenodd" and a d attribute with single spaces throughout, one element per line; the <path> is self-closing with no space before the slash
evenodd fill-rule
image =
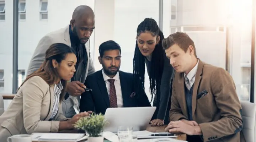
<path id="1" fill-rule="evenodd" d="M 73 19 L 72 19 L 73 20 Z M 78 20 L 73 20 L 72 24 L 71 20 L 71 28 L 73 29 L 72 32 L 78 37 L 81 44 L 85 44 L 92 32 L 95 28 L 95 18 L 94 16 L 81 16 Z"/>

